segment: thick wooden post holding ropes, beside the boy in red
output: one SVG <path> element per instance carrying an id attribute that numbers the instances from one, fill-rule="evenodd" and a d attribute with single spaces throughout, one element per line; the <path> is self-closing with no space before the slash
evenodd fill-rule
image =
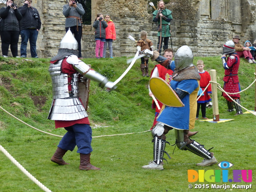
<path id="1" fill-rule="evenodd" d="M 210 73 L 211 73 L 211 81 L 217 82 L 216 70 L 212 69 Z M 211 83 L 211 85 L 212 85 L 212 118 L 213 118 L 213 121 L 220 121 L 217 84 Z"/>

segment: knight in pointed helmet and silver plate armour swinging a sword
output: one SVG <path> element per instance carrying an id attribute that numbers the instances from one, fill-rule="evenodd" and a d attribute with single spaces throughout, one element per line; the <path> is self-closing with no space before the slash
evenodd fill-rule
<path id="1" fill-rule="evenodd" d="M 58 54 L 50 63 L 53 101 L 48 119 L 55 121 L 55 128 L 64 127 L 67 130 L 51 161 L 59 165 L 68 164 L 62 157 L 68 150 L 73 151 L 77 146 L 77 152 L 80 153 L 80 170 L 100 170 L 90 164 L 92 128 L 79 97 L 78 83 L 82 77 L 98 82 L 101 87 L 107 88 L 107 91 L 114 90 L 116 86 L 78 59 L 78 43 L 70 30 L 60 42 Z"/>

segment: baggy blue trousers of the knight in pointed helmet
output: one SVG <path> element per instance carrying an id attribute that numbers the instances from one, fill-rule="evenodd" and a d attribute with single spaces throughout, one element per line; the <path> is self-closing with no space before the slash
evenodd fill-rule
<path id="1" fill-rule="evenodd" d="M 65 127 L 68 131 L 60 140 L 59 148 L 63 150 L 73 151 L 77 146 L 78 153 L 89 154 L 92 152 L 92 128 L 88 124 L 74 124 L 70 127 Z"/>

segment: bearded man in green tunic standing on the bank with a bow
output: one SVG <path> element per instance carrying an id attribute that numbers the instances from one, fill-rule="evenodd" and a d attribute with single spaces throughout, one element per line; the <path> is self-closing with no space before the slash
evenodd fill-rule
<path id="1" fill-rule="evenodd" d="M 157 8 L 158 9 L 153 12 L 153 21 L 158 23 L 157 50 L 159 50 L 158 52 L 161 53 L 163 41 L 164 41 L 164 46 L 163 46 L 164 50 L 168 49 L 168 40 L 169 40 L 169 37 L 171 36 L 170 21 L 172 20 L 172 12 L 165 8 L 165 4 L 163 0 L 160 0 L 158 2 Z M 162 20 L 162 30 L 160 26 L 160 20 Z M 161 42 L 160 42 L 160 36 L 162 37 Z"/>

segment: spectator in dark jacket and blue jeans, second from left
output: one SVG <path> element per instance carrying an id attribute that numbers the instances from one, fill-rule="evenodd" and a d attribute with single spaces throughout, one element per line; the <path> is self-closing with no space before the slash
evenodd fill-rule
<path id="1" fill-rule="evenodd" d="M 27 57 L 29 40 L 31 57 L 38 58 L 36 54 L 36 40 L 41 28 L 41 19 L 38 10 L 32 7 L 32 0 L 25 0 L 24 5 L 18 9 L 23 16 L 22 20 L 20 20 L 20 57 Z"/>

